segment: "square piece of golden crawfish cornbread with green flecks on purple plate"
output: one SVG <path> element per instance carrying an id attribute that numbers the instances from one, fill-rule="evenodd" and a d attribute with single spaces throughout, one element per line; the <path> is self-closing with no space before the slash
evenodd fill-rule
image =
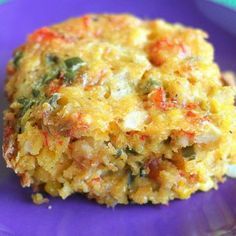
<path id="1" fill-rule="evenodd" d="M 216 188 L 236 161 L 235 91 L 206 38 L 130 15 L 36 30 L 7 67 L 7 166 L 24 187 L 107 205 Z"/>

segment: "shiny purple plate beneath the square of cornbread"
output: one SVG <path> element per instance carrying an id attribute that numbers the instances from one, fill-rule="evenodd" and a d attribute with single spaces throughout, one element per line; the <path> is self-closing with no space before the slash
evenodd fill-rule
<path id="1" fill-rule="evenodd" d="M 6 0 L 0 0 L 6 2 Z M 130 12 L 161 17 L 205 29 L 216 47 L 221 68 L 236 70 L 236 38 L 210 22 L 190 0 L 10 0 L 0 5 L 0 85 L 11 52 L 43 25 L 89 12 Z M 233 24 L 233 22 L 232 22 Z M 1 93 L 1 111 L 6 106 Z M 2 128 L 2 127 L 1 127 Z M 236 235 L 236 180 L 219 190 L 196 193 L 168 206 L 129 205 L 106 208 L 84 196 L 50 199 L 36 206 L 30 190 L 0 160 L 0 236 L 9 235 Z"/>

